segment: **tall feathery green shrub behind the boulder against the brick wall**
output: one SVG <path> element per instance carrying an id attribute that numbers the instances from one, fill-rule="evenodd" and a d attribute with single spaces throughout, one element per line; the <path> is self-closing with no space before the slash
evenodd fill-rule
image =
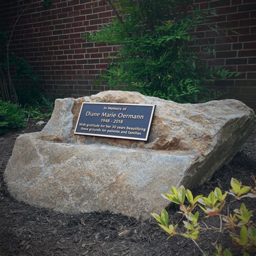
<path id="1" fill-rule="evenodd" d="M 122 45 L 102 73 L 107 85 L 180 103 L 214 98 L 204 84 L 238 75 L 208 68 L 191 48 L 190 31 L 205 23 L 212 10 L 192 10 L 193 1 L 113 0 L 117 18 L 101 31 L 84 35 L 93 42 Z M 209 53 L 214 50 L 208 49 Z"/>

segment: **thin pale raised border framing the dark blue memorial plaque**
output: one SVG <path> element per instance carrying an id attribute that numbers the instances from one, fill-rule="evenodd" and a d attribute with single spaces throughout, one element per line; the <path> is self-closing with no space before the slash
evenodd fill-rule
<path id="1" fill-rule="evenodd" d="M 149 120 L 149 126 L 147 126 L 147 134 L 146 134 L 146 138 L 134 138 L 134 137 L 123 137 L 123 136 L 114 136 L 114 135 L 104 135 L 104 134 L 93 134 L 93 133 L 82 133 L 82 132 L 76 132 L 77 130 L 77 126 L 78 126 L 78 122 L 79 122 L 79 118 L 80 118 L 80 114 L 82 113 L 82 109 L 83 109 L 83 105 L 84 104 L 101 104 L 101 105 L 133 105 L 133 106 L 152 106 L 152 111 L 151 111 L 151 115 L 150 115 L 150 120 Z M 88 135 L 88 136 L 97 136 L 97 137 L 105 137 L 105 138 L 118 138 L 118 139 L 134 139 L 134 140 L 143 140 L 143 141 L 147 141 L 148 137 L 149 137 L 149 132 L 150 132 L 150 128 L 151 128 L 151 124 L 152 124 L 152 119 L 153 119 L 153 114 L 154 111 L 156 110 L 156 104 L 131 104 L 131 103 L 107 103 L 107 102 L 83 102 L 80 108 L 80 112 L 79 112 L 79 116 L 77 118 L 77 124 L 75 127 L 75 131 L 74 134 L 76 135 Z"/>

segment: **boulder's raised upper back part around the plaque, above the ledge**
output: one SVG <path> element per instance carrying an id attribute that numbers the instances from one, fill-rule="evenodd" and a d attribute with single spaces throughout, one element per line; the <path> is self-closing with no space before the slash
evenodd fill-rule
<path id="1" fill-rule="evenodd" d="M 83 102 L 155 104 L 156 111 L 148 141 L 74 134 Z M 41 132 L 41 138 L 63 143 L 99 143 L 152 150 L 197 151 L 204 155 L 217 143 L 221 135 L 219 131 L 225 132 L 225 129 L 221 128 L 231 119 L 241 122 L 241 117 L 254 119 L 254 112 L 235 99 L 213 100 L 202 104 L 179 104 L 170 100 L 144 96 L 138 92 L 104 91 L 90 97 L 56 99 L 55 110 Z M 230 135 L 227 134 L 227 136 Z"/>

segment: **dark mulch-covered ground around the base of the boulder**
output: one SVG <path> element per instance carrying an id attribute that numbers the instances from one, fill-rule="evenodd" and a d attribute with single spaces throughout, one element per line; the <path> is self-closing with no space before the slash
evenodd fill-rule
<path id="1" fill-rule="evenodd" d="M 17 136 L 43 128 L 34 124 L 30 121 L 25 129 L 0 137 L 0 255 L 200 255 L 196 245 L 187 238 L 167 240 L 166 234 L 152 218 L 138 221 L 111 212 L 69 215 L 35 208 L 13 199 L 6 190 L 3 173 Z M 252 186 L 250 177 L 252 174 L 256 176 L 255 166 L 254 132 L 229 164 L 192 192 L 206 196 L 215 186 L 228 190 L 232 177 Z M 255 199 L 246 199 L 244 203 L 255 210 Z M 238 205 L 235 203 L 234 206 Z M 176 206 L 169 210 L 173 223 L 181 219 L 177 210 Z M 218 219 L 204 219 L 204 222 L 208 226 L 219 227 Z M 118 234 L 125 230 L 129 234 L 120 237 Z M 198 243 L 211 255 L 214 251 L 212 242 L 217 237 L 218 232 L 206 231 L 200 234 Z M 221 234 L 219 242 L 224 248 L 230 248 L 233 255 L 241 255 L 240 248 L 232 245 L 227 233 Z"/>

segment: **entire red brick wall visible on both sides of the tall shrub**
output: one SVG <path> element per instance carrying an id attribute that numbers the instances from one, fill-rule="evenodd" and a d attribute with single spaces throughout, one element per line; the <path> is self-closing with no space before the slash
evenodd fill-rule
<path id="1" fill-rule="evenodd" d="M 0 19 L 6 22 L 6 29 L 11 29 L 27 2 L 17 1 L 15 5 L 1 0 Z M 238 79 L 208 86 L 226 91 L 228 97 L 256 109 L 256 1 L 194 2 L 201 9 L 215 8 L 218 16 L 210 17 L 210 24 L 222 26 L 225 31 L 216 33 L 207 26 L 194 31 L 199 38 L 198 51 L 203 52 L 207 45 L 216 49 L 214 55 L 202 53 L 207 65 L 242 72 Z M 107 68 L 106 57 L 118 47 L 86 42 L 82 34 L 100 29 L 112 16 L 113 11 L 103 0 L 52 0 L 50 10 L 43 9 L 43 0 L 32 0 L 15 28 L 11 51 L 28 60 L 49 95 L 91 95 L 106 89 L 104 85 L 94 86 L 93 81 L 99 70 Z"/>

